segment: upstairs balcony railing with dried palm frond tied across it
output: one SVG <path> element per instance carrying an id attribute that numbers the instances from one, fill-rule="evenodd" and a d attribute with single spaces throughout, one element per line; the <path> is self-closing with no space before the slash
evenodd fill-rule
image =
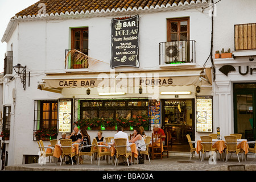
<path id="1" fill-rule="evenodd" d="M 88 68 L 88 49 L 66 49 L 65 69 Z"/>

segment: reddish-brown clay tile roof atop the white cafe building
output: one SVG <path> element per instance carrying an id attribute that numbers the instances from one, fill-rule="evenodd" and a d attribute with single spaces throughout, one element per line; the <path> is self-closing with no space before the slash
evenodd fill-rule
<path id="1" fill-rule="evenodd" d="M 16 14 L 16 16 L 33 16 L 40 13 L 42 6 L 40 3 L 46 5 L 46 14 L 55 15 L 58 13 L 81 13 L 81 11 L 88 11 L 93 13 L 96 11 L 113 11 L 113 10 L 133 10 L 133 9 L 151 9 L 155 7 L 171 7 L 178 5 L 191 5 L 195 3 L 208 2 L 209 0 L 40 0 L 34 5 L 27 7 Z M 43 11 L 41 11 L 43 13 Z"/>

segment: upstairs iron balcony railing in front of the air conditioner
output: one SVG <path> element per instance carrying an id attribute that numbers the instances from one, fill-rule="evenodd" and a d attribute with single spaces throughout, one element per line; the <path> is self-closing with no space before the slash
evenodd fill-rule
<path id="1" fill-rule="evenodd" d="M 196 63 L 196 41 L 159 43 L 159 64 Z"/>

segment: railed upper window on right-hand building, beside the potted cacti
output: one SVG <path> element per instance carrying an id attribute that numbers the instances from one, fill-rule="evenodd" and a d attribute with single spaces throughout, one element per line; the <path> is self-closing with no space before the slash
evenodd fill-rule
<path id="1" fill-rule="evenodd" d="M 235 51 L 256 49 L 256 23 L 234 25 Z"/>

